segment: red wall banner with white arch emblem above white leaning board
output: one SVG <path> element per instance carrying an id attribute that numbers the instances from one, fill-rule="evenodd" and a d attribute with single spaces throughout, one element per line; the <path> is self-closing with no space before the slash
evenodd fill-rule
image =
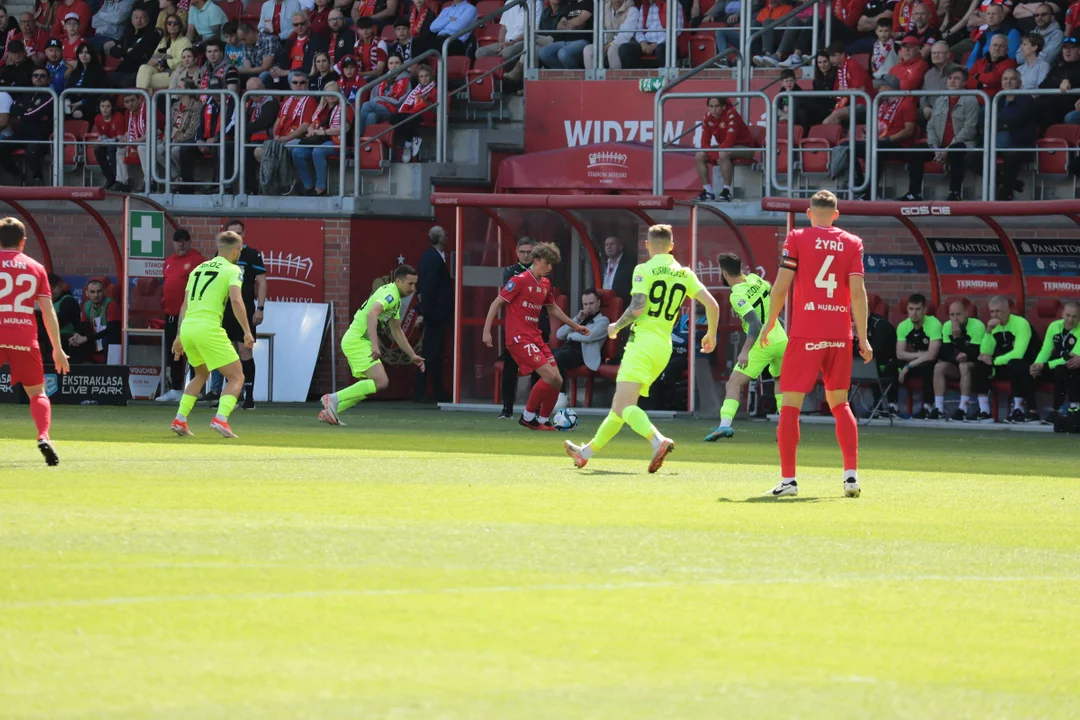
<path id="1" fill-rule="evenodd" d="M 268 300 L 323 301 L 324 230 L 322 220 L 244 219 L 244 239 L 262 253 Z"/>

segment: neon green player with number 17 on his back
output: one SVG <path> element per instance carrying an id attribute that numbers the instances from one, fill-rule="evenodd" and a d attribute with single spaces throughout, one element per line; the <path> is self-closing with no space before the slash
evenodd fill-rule
<path id="1" fill-rule="evenodd" d="M 184 389 L 180 408 L 173 420 L 172 430 L 181 437 L 193 435 L 188 427 L 188 413 L 195 405 L 195 398 L 210 379 L 212 370 L 225 376 L 226 384 L 217 415 L 211 421 L 211 430 L 224 437 L 235 437 L 229 427 L 229 413 L 237 407 L 237 399 L 244 388 L 244 368 L 240 355 L 221 327 L 225 303 L 232 303 L 237 320 L 244 329 L 244 347 L 254 348 L 255 338 L 247 325 L 247 310 L 240 294 L 244 271 L 237 261 L 244 248 L 243 239 L 234 232 L 222 232 L 217 236 L 217 257 L 203 262 L 188 276 L 184 305 L 180 308 L 179 328 L 173 342 L 176 359 L 187 354 L 188 363 L 195 377 Z"/>

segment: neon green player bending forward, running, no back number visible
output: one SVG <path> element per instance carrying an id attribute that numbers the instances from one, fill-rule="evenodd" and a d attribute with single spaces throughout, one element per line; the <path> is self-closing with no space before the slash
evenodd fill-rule
<path id="1" fill-rule="evenodd" d="M 402 297 L 416 291 L 416 268 L 403 264 L 394 270 L 391 282 L 372 293 L 372 297 L 356 311 L 352 325 L 341 338 L 341 352 L 349 361 L 352 377 L 361 380 L 332 395 L 323 395 L 320 420 L 329 425 L 343 425 L 338 418 L 339 412 L 390 386 L 387 369 L 382 367 L 379 323 L 390 326 L 394 342 L 423 372 L 423 358 L 416 354 L 402 330 Z"/>

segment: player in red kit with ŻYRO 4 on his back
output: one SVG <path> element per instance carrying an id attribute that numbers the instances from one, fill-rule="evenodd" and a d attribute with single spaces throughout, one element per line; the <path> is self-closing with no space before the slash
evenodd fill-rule
<path id="1" fill-rule="evenodd" d="M 812 227 L 793 230 L 784 241 L 780 273 L 772 286 L 769 320 L 761 332 L 768 347 L 769 331 L 777 324 L 794 282 L 792 312 L 784 352 L 783 407 L 777 440 L 780 444 L 781 483 L 773 497 L 796 495 L 795 453 L 799 445 L 799 409 L 821 372 L 825 399 L 836 418 L 836 439 L 843 454 L 843 492 L 858 498 L 859 426 L 848 405 L 851 385 L 851 316 L 859 334 L 859 354 L 874 359 L 866 337 L 866 285 L 863 282 L 863 241 L 833 223 L 840 214 L 836 195 L 821 190 L 807 210 Z"/>

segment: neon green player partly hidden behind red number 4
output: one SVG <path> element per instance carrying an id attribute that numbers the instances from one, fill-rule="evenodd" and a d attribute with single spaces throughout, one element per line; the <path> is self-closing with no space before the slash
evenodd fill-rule
<path id="1" fill-rule="evenodd" d="M 757 380 L 761 371 L 768 367 L 777 389 L 777 407 L 780 407 L 780 368 L 787 349 L 787 332 L 780 323 L 772 328 L 769 336 L 769 347 L 757 343 L 761 334 L 761 325 L 769 316 L 769 294 L 772 286 L 754 273 L 743 274 L 742 260 L 733 253 L 725 253 L 717 261 L 720 263 L 720 275 L 724 284 L 731 287 L 731 309 L 743 322 L 743 332 L 746 341 L 739 352 L 734 371 L 725 388 L 724 405 L 720 406 L 720 424 L 705 435 L 706 443 L 713 443 L 721 437 L 731 437 L 735 431 L 731 421 L 739 411 L 739 398 L 751 380 Z"/>

